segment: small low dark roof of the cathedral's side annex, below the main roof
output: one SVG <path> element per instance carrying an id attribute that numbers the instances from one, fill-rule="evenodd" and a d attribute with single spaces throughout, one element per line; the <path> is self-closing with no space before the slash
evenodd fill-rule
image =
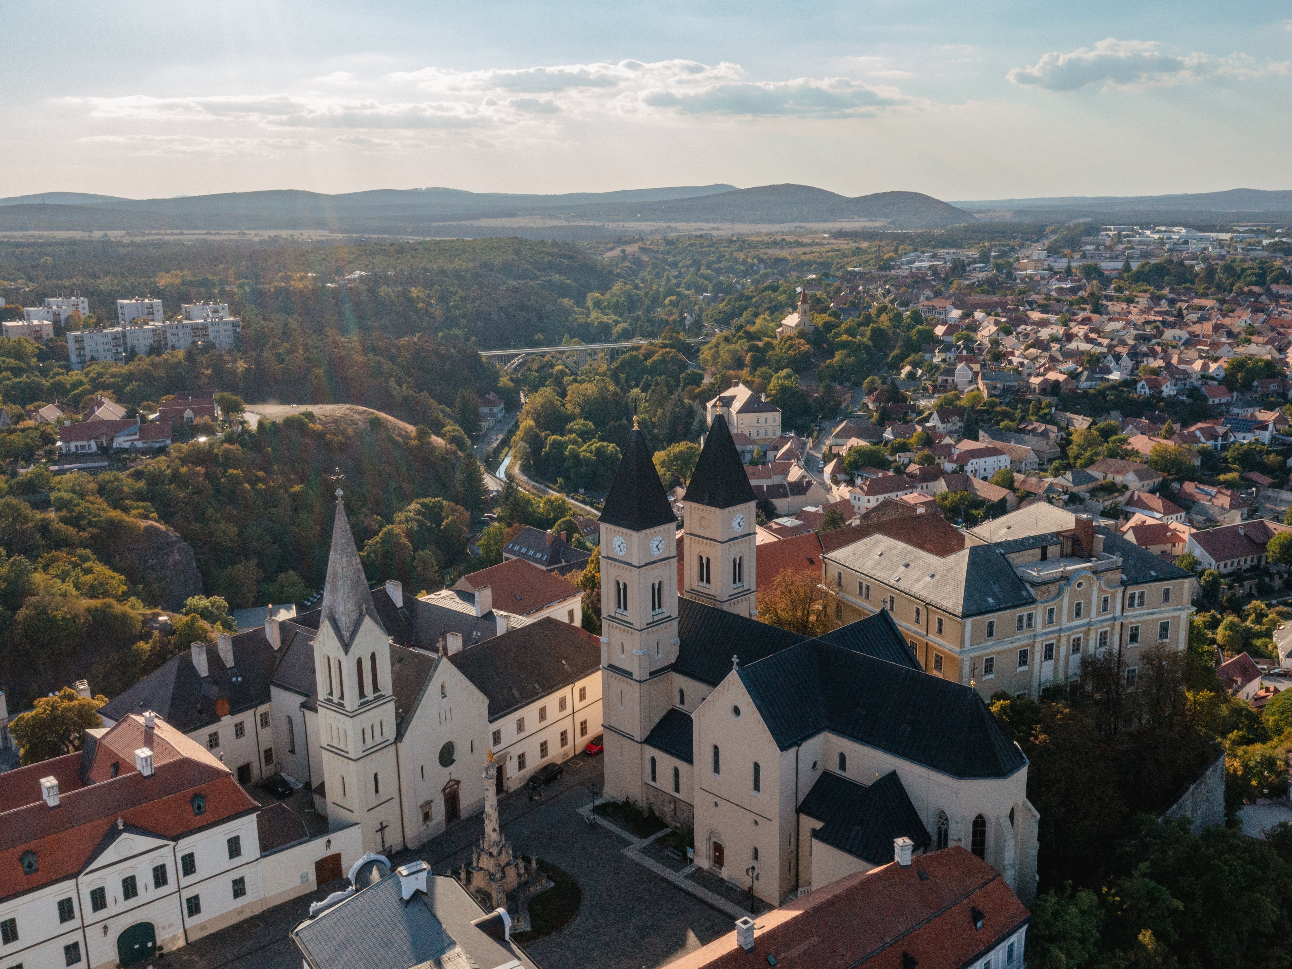
<path id="1" fill-rule="evenodd" d="M 933 840 L 895 770 L 870 786 L 823 771 L 798 813 L 824 822 L 813 828 L 814 839 L 871 864 L 893 860 L 894 839 L 911 839 L 916 850 Z"/>

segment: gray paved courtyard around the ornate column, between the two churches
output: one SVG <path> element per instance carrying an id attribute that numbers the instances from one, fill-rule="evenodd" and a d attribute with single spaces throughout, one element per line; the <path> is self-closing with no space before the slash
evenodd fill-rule
<path id="1" fill-rule="evenodd" d="M 503 831 L 516 849 L 570 872 L 583 889 L 579 913 L 565 929 L 527 947 L 543 969 L 652 969 L 731 932 L 730 915 L 709 907 L 624 854 L 629 845 L 578 813 L 601 788 L 601 758 L 576 757 L 541 801 L 523 791 L 501 798 Z M 455 824 L 395 864 L 426 860 L 447 875 L 470 857 L 482 835 L 479 815 Z M 288 933 L 309 915 L 310 902 L 345 888 L 344 881 L 261 912 L 167 956 L 187 969 L 300 969 Z"/>

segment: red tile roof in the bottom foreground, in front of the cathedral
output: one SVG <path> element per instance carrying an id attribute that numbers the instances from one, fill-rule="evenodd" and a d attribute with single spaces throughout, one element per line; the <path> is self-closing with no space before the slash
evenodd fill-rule
<path id="1" fill-rule="evenodd" d="M 920 875 L 926 877 L 921 879 Z M 972 910 L 982 912 L 973 928 Z M 671 969 L 747 969 L 775 957 L 783 969 L 961 969 L 1021 929 L 1031 913 L 986 862 L 964 848 L 885 864 L 758 916 L 753 950 L 735 933 L 690 952 Z"/>

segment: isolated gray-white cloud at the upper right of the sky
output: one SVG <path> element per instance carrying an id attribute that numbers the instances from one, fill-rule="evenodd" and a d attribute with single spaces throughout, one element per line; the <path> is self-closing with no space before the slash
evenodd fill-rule
<path id="1" fill-rule="evenodd" d="M 1050 52 L 1005 76 L 1014 84 L 1045 90 L 1079 90 L 1090 84 L 1106 88 L 1149 88 L 1186 84 L 1208 78 L 1256 78 L 1286 74 L 1287 62 L 1258 62 L 1247 54 L 1214 57 L 1198 52 L 1172 54 L 1155 40 L 1107 37 L 1094 47 L 1070 53 Z"/>

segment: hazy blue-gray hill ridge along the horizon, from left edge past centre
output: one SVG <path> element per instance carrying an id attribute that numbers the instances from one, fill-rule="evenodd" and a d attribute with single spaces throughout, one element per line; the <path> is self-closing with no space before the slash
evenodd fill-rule
<path id="1" fill-rule="evenodd" d="M 430 233 L 475 220 L 557 218 L 572 222 L 727 222 L 800 225 L 881 222 L 932 229 L 975 221 L 929 195 L 889 191 L 848 198 L 808 185 L 731 185 L 523 195 L 459 189 L 379 189 L 326 195 L 292 189 L 124 199 L 45 193 L 0 199 L 0 230 L 332 230 L 357 234 Z M 505 225 L 497 225 L 499 230 Z"/>

